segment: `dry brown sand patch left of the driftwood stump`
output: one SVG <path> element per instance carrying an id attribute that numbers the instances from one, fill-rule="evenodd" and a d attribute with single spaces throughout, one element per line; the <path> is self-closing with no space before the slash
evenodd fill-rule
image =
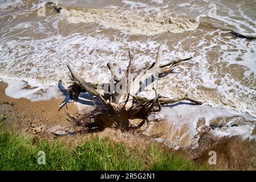
<path id="1" fill-rule="evenodd" d="M 40 126 L 43 131 L 58 125 L 72 126 L 67 121 L 66 108 L 58 111 L 63 98 L 36 102 L 31 102 L 26 98 L 14 99 L 6 96 L 6 86 L 7 84 L 0 82 L 0 114 L 6 115 L 7 119 L 14 122 L 19 130 L 36 134 L 35 130 L 39 129 Z M 68 111 L 76 113 L 76 106 L 69 104 Z"/>

